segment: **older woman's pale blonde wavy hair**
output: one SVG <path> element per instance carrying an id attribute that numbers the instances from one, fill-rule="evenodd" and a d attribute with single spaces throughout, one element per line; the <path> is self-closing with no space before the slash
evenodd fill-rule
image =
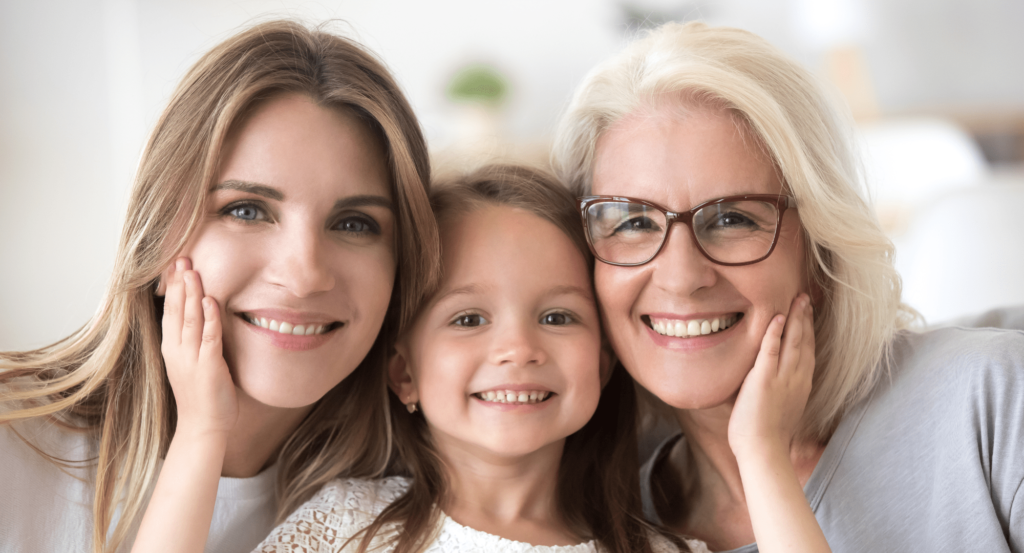
<path id="1" fill-rule="evenodd" d="M 867 202 L 849 117 L 798 63 L 764 39 L 700 23 L 667 24 L 598 66 L 579 87 L 553 163 L 588 194 L 598 138 L 625 116 L 666 101 L 724 108 L 770 155 L 800 206 L 815 305 L 817 368 L 803 435 L 827 440 L 843 413 L 888 367 L 900 302 L 893 246 Z"/>

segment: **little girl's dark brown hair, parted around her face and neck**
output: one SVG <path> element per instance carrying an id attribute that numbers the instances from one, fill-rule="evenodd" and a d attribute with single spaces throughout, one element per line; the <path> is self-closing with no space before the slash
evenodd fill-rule
<path id="1" fill-rule="evenodd" d="M 488 205 L 527 211 L 565 232 L 588 266 L 593 267 L 572 195 L 542 171 L 511 165 L 486 166 L 435 185 L 430 203 L 441 225 Z M 444 463 L 433 445 L 426 420 L 418 414 L 409 415 L 393 394 L 390 409 L 398 454 L 394 469 L 411 477 L 412 482 L 409 492 L 357 537 L 361 540 L 359 553 L 366 553 L 374 536 L 392 523 L 402 526 L 394 543 L 395 553 L 423 551 L 440 521 L 437 506 L 443 508 L 449 499 Z M 557 504 L 566 525 L 578 536 L 598 540 L 609 553 L 652 551 L 652 528 L 640 516 L 639 473 L 635 388 L 626 371 L 616 367 L 601 392 L 593 418 L 565 439 Z M 680 551 L 688 551 L 681 541 L 678 545 Z"/>

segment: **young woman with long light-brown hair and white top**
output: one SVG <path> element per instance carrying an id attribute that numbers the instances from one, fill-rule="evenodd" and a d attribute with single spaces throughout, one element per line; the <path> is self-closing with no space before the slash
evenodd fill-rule
<path id="1" fill-rule="evenodd" d="M 162 459 L 173 477 L 197 437 L 219 455 L 210 550 L 381 474 L 386 355 L 437 276 L 428 178 L 408 102 L 351 41 L 272 22 L 200 59 L 150 139 L 96 317 L 0 354 L 0 550 L 127 548 Z M 196 289 L 219 372 L 187 372 Z M 210 393 L 221 410 L 198 413 Z"/>

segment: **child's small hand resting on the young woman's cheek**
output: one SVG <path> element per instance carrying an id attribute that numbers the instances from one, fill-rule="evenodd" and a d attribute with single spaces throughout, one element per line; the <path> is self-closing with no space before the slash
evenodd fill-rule
<path id="1" fill-rule="evenodd" d="M 224 361 L 220 309 L 204 296 L 199 272 L 186 258 L 175 261 L 168 275 L 163 329 L 161 352 L 178 412 L 175 434 L 226 437 L 239 405 Z"/>

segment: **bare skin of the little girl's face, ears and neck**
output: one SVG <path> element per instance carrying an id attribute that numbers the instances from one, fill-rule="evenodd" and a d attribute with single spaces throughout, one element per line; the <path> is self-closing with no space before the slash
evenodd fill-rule
<path id="1" fill-rule="evenodd" d="M 449 469 L 444 512 L 510 540 L 578 544 L 555 507 L 558 466 L 607 367 L 585 258 L 554 224 L 507 206 L 461 215 L 441 238 L 442 288 L 389 376 L 403 402 L 419 402 Z M 522 406 L 474 395 L 517 386 L 553 395 Z"/>

